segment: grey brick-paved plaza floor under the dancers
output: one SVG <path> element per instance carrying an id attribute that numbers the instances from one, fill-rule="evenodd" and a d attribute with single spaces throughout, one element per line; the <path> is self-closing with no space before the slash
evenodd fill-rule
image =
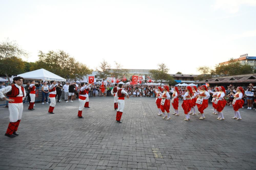
<path id="1" fill-rule="evenodd" d="M 9 111 L 0 108 L 0 169 L 256 169 L 256 111 L 241 109 L 242 120 L 233 120 L 233 108 L 224 109 L 225 120 L 216 120 L 212 105 L 199 114 L 163 120 L 155 98 L 125 99 L 121 121 L 115 121 L 113 97 L 90 97 L 91 108 L 77 118 L 78 99 L 49 105 L 36 103 L 24 112 L 19 136 L 4 136 Z M 171 107 L 171 113 L 173 108 Z"/>

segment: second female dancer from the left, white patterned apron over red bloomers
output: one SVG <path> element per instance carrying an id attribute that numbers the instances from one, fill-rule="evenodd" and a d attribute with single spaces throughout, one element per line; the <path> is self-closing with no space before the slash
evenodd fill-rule
<path id="1" fill-rule="evenodd" d="M 167 120 L 170 119 L 170 94 L 169 94 L 169 87 L 168 86 L 164 86 L 164 88 L 166 89 L 163 93 L 162 93 L 162 99 L 161 99 L 161 111 L 163 113 L 163 119 L 167 118 Z M 167 112 L 167 115 L 165 114 L 165 111 Z"/>

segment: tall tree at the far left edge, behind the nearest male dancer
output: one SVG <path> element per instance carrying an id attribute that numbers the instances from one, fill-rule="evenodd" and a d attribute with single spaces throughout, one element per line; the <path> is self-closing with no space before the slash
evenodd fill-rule
<path id="1" fill-rule="evenodd" d="M 0 74 L 4 74 L 9 82 L 9 75 L 24 73 L 21 57 L 27 57 L 27 53 L 15 41 L 7 39 L 0 44 Z"/>

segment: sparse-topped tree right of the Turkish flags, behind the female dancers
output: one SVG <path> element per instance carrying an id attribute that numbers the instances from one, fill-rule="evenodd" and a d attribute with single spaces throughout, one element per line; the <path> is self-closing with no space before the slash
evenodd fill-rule
<path id="1" fill-rule="evenodd" d="M 153 79 L 160 81 L 161 83 L 163 81 L 167 81 L 170 84 L 174 83 L 174 80 L 170 74 L 168 74 L 169 68 L 164 63 L 158 64 L 158 69 L 154 70 L 151 69 L 149 73 L 152 75 Z"/>

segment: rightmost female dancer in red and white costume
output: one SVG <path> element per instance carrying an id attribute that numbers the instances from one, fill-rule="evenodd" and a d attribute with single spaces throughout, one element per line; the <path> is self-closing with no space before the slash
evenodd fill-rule
<path id="1" fill-rule="evenodd" d="M 234 95 L 234 101 L 232 103 L 233 109 L 234 109 L 234 118 L 233 119 L 241 120 L 242 118 L 241 118 L 239 109 L 242 108 L 244 105 L 244 101 L 242 100 L 244 91 L 243 91 L 242 87 L 238 87 L 238 88 L 240 89 L 241 92 L 237 92 Z"/>

